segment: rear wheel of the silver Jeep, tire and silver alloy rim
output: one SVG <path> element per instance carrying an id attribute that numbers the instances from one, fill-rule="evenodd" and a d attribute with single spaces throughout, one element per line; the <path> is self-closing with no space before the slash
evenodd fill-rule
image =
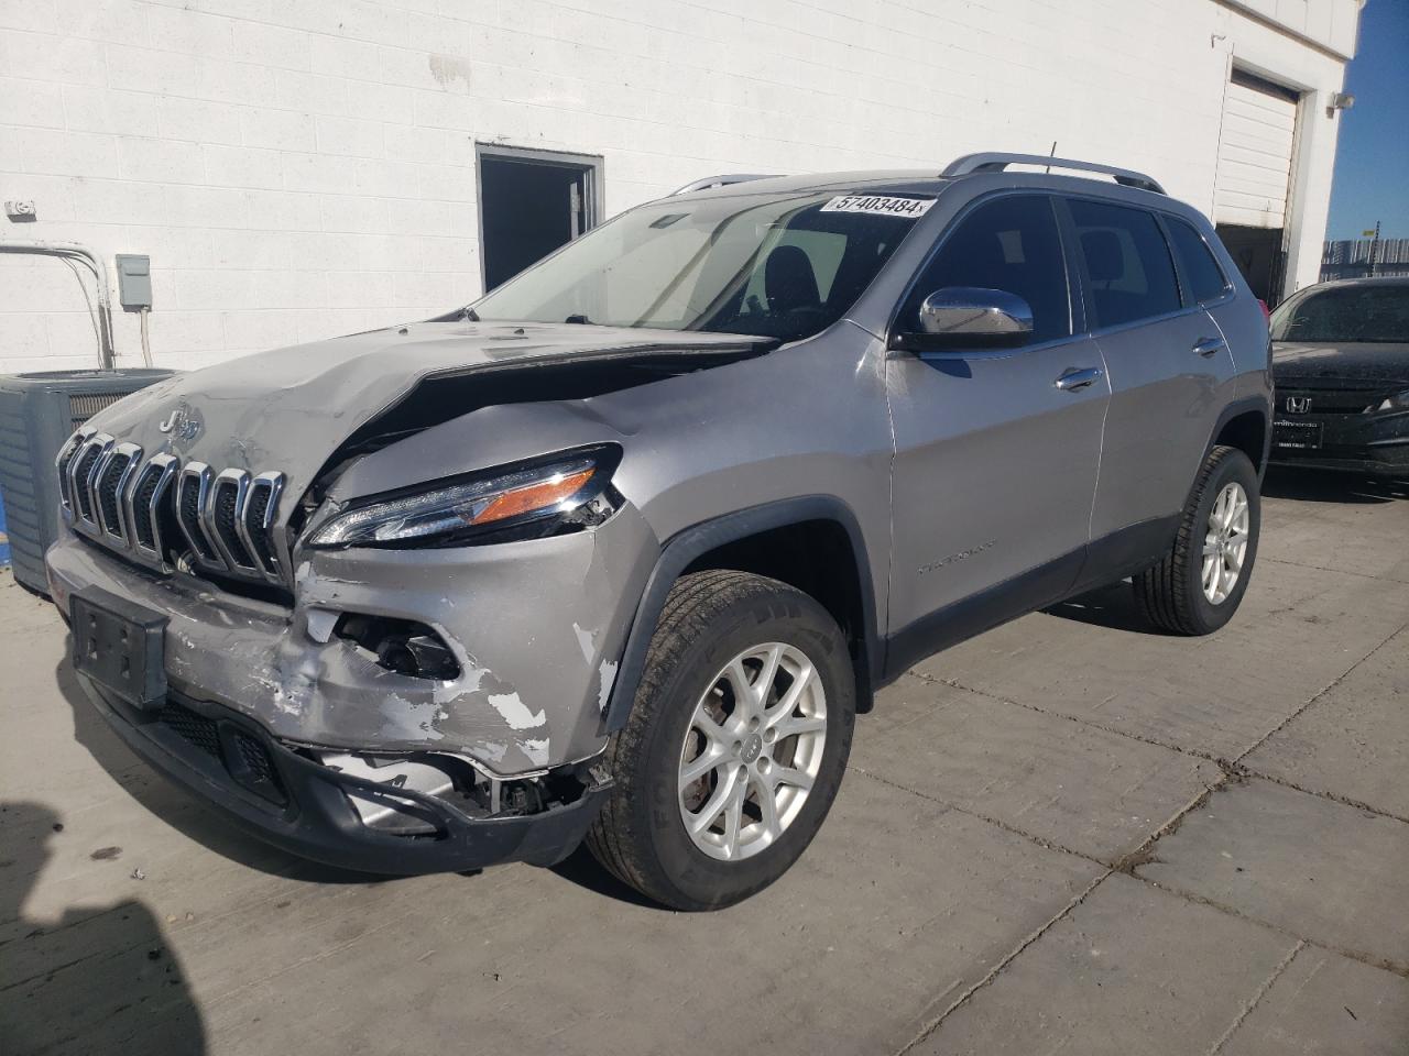
<path id="1" fill-rule="evenodd" d="M 1208 635 L 1223 627 L 1247 591 L 1261 521 L 1251 460 L 1237 448 L 1213 448 L 1169 552 L 1133 579 L 1146 617 L 1179 635 Z"/>

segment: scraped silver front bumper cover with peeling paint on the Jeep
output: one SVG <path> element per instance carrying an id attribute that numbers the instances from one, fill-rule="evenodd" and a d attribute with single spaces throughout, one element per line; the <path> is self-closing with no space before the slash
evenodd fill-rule
<path id="1" fill-rule="evenodd" d="M 576 763 L 603 722 L 635 598 L 659 545 L 626 505 L 590 531 L 489 546 L 310 552 L 292 607 L 130 566 L 61 529 L 55 603 L 107 591 L 169 615 L 168 683 L 273 738 L 351 752 L 451 752 L 511 777 Z M 454 679 L 399 674 L 333 634 L 340 614 L 410 620 Z M 321 631 L 318 629 L 321 628 Z"/>

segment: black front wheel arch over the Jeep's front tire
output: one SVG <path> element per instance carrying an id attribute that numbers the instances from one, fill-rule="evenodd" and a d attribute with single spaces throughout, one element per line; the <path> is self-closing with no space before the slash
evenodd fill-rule
<path id="1" fill-rule="evenodd" d="M 797 556 L 800 539 L 826 548 L 836 563 L 828 562 L 821 574 L 816 574 L 816 566 Z M 790 566 L 779 558 L 789 552 L 793 555 Z M 840 498 L 803 496 L 703 521 L 671 536 L 661 548 L 627 632 L 621 666 L 607 701 L 606 732 L 621 729 L 631 714 L 647 649 L 671 587 L 689 572 L 714 567 L 772 576 L 817 597 L 851 642 L 857 710 L 869 710 L 885 650 L 876 628 L 875 583 L 861 525 Z"/>

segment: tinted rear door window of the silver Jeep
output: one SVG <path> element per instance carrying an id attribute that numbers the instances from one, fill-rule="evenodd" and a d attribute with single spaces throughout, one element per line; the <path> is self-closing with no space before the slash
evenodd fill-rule
<path id="1" fill-rule="evenodd" d="M 1184 307 L 1154 214 L 1088 199 L 1068 204 L 1091 284 L 1092 325 L 1119 327 Z"/>

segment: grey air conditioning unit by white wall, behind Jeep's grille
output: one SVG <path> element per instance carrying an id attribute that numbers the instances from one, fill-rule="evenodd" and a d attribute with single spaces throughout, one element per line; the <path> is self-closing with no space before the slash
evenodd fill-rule
<path id="1" fill-rule="evenodd" d="M 49 593 L 44 552 L 58 534 L 54 459 L 69 435 L 128 393 L 172 370 L 46 370 L 0 376 L 0 501 L 14 577 Z"/>

